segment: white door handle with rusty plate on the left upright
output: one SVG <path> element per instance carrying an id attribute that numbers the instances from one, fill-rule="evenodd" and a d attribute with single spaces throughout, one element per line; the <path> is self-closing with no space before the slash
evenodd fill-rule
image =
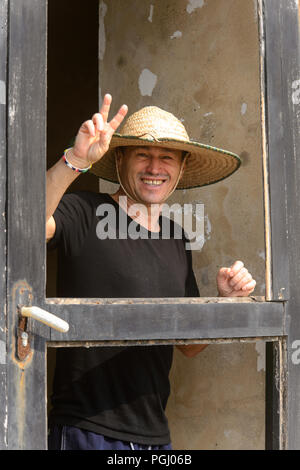
<path id="1" fill-rule="evenodd" d="M 24 361 L 31 352 L 31 334 L 29 332 L 29 318 L 40 321 L 57 331 L 66 333 L 69 331 L 69 324 L 61 318 L 47 312 L 39 307 L 18 306 L 18 328 L 17 328 L 17 356 L 20 361 Z"/>

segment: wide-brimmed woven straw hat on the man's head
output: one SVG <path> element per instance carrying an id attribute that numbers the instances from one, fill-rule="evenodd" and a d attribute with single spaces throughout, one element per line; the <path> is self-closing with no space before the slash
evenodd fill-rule
<path id="1" fill-rule="evenodd" d="M 147 106 L 127 119 L 120 133 L 113 135 L 109 150 L 90 171 L 118 183 L 115 149 L 152 145 L 189 153 L 177 189 L 216 183 L 232 175 L 241 164 L 239 156 L 232 152 L 190 140 L 184 125 L 173 114 Z"/>

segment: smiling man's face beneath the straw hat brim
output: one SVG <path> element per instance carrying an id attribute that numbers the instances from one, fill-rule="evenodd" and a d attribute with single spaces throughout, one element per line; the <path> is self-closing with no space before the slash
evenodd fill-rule
<path id="1" fill-rule="evenodd" d="M 163 202 L 173 189 L 182 165 L 180 150 L 124 147 L 118 158 L 122 184 L 135 201 Z"/>

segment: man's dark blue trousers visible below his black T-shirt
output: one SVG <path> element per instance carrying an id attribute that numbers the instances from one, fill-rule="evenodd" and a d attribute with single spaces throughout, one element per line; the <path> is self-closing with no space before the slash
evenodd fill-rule
<path id="1" fill-rule="evenodd" d="M 147 445 L 118 441 L 75 426 L 54 426 L 48 436 L 49 450 L 172 450 L 171 444 Z"/>

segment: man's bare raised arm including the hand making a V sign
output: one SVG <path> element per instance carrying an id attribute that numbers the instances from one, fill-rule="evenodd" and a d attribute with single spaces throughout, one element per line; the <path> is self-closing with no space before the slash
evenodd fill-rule
<path id="1" fill-rule="evenodd" d="M 107 152 L 114 132 L 127 114 L 127 106 L 123 105 L 108 123 L 111 96 L 105 95 L 100 113 L 85 121 L 79 129 L 75 144 L 68 151 L 68 161 L 76 168 L 87 168 L 96 163 Z M 55 234 L 53 214 L 62 196 L 70 184 L 80 175 L 73 171 L 61 159 L 47 171 L 46 195 L 46 239 L 49 241 Z"/>

